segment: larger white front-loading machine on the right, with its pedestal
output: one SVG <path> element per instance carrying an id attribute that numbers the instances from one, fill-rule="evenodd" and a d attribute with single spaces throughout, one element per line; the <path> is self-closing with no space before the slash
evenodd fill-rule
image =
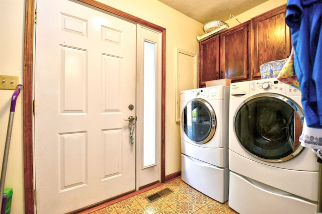
<path id="1" fill-rule="evenodd" d="M 243 213 L 321 211 L 321 164 L 298 138 L 301 92 L 279 80 L 230 84 L 229 206 Z"/>

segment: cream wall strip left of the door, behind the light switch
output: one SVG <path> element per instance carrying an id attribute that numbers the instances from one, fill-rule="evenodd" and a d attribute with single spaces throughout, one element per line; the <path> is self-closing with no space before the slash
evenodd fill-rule
<path id="1" fill-rule="evenodd" d="M 23 82 L 24 1 L 0 3 L 0 74 L 19 76 Z M 0 80 L 2 81 L 2 80 Z M 0 90 L 0 164 L 3 162 L 10 103 L 14 90 Z M 24 213 L 23 90 L 18 96 L 10 141 L 5 188 L 13 188 L 11 213 Z"/>

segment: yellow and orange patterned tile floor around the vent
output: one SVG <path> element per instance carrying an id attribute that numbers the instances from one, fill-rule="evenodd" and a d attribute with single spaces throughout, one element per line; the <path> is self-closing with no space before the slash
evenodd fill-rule
<path id="1" fill-rule="evenodd" d="M 145 197 L 164 188 L 173 190 L 171 194 L 163 196 L 154 202 L 149 202 Z M 91 209 L 93 210 L 93 209 Z M 237 213 L 228 206 L 228 202 L 219 203 L 212 198 L 200 193 L 181 180 L 175 178 L 155 188 L 135 194 L 131 197 L 100 207 L 88 213 L 126 213 L 126 214 L 151 214 L 151 213 Z"/>

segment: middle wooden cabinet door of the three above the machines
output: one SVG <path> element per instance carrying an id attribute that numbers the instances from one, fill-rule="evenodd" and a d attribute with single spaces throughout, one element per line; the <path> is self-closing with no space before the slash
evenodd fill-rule
<path id="1" fill-rule="evenodd" d="M 220 78 L 233 81 L 249 78 L 250 21 L 233 27 L 220 36 Z"/>

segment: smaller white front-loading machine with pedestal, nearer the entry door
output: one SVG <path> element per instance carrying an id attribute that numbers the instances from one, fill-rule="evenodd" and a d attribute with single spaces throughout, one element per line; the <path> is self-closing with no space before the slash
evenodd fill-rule
<path id="1" fill-rule="evenodd" d="M 181 177 L 205 195 L 228 200 L 229 87 L 181 92 Z"/>

